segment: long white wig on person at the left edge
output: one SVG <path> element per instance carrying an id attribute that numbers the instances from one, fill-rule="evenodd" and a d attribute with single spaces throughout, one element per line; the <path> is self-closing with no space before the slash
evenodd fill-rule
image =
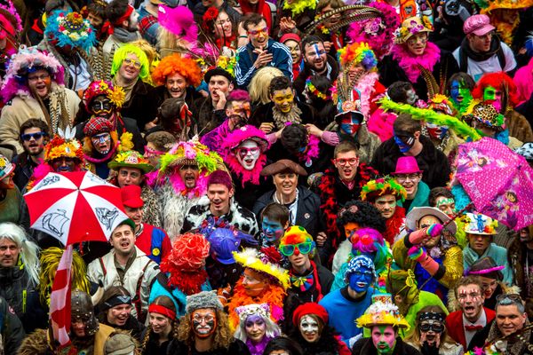
<path id="1" fill-rule="evenodd" d="M 33 241 L 28 240 L 28 236 L 19 225 L 11 222 L 0 224 L 0 240 L 8 239 L 20 248 L 17 267 L 24 268 L 28 272 L 29 280 L 35 285 L 39 283 L 39 247 Z"/>

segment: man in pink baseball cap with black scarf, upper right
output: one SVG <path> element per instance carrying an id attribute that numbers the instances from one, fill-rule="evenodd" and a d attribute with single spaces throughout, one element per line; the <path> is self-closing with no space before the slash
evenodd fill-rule
<path id="1" fill-rule="evenodd" d="M 466 36 L 453 51 L 460 71 L 476 82 L 485 73 L 510 72 L 516 67 L 513 51 L 496 36 L 495 29 L 489 16 L 470 16 L 463 24 Z"/>

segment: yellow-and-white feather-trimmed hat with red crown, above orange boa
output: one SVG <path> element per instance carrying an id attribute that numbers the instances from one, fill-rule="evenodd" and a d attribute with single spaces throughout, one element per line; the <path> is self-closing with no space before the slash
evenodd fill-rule
<path id="1" fill-rule="evenodd" d="M 289 272 L 283 269 L 278 263 L 282 256 L 274 248 L 244 248 L 240 253 L 234 251 L 235 261 L 245 268 L 250 268 L 255 272 L 265 275 L 269 280 L 282 286 L 283 289 L 290 287 Z"/>

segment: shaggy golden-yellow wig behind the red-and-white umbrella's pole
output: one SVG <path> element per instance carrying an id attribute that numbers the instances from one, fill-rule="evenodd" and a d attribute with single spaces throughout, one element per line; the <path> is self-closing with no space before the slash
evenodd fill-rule
<path id="1" fill-rule="evenodd" d="M 62 248 L 45 248 L 41 253 L 41 272 L 39 273 L 39 284 L 37 290 L 42 304 L 50 306 L 50 294 L 52 293 L 53 280 L 60 264 L 61 256 L 65 250 Z M 70 268 L 72 279 L 72 289 L 79 289 L 89 293 L 89 278 L 87 277 L 87 267 L 84 259 L 76 251 L 72 254 L 72 266 Z"/>

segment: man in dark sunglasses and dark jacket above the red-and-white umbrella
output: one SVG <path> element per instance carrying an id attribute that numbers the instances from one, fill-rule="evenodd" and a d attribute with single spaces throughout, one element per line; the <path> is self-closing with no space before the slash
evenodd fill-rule
<path id="1" fill-rule="evenodd" d="M 24 153 L 15 155 L 12 163 L 15 164 L 13 182 L 19 190 L 24 189 L 33 170 L 44 159 L 44 146 L 50 140 L 49 128 L 46 122 L 30 118 L 20 126 L 20 142 Z"/>

